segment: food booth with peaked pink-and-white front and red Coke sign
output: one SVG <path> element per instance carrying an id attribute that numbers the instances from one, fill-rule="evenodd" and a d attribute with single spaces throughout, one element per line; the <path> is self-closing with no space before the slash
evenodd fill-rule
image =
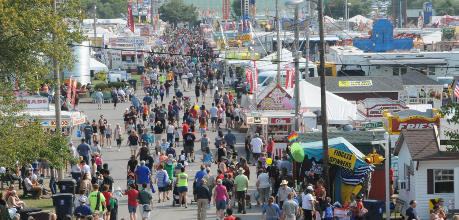
<path id="1" fill-rule="evenodd" d="M 293 92 L 293 89 L 284 89 L 274 82 L 270 83 L 258 93 L 257 99 L 252 99 L 250 108 L 241 109 L 243 120 L 249 126 L 247 134 L 259 133 L 266 142 L 268 137 L 272 137 L 275 143 L 274 155 L 281 155 L 287 147 L 285 137 L 295 128 L 295 103 L 289 92 Z M 300 132 L 313 132 L 313 128 L 317 127 L 316 115 L 306 107 L 300 108 L 301 113 Z"/>

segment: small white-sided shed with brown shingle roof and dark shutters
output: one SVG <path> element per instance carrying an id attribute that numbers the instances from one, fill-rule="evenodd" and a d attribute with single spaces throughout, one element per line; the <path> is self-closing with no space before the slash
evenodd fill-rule
<path id="1" fill-rule="evenodd" d="M 429 204 L 438 198 L 459 201 L 459 152 L 440 151 L 436 129 L 406 129 L 398 137 L 393 154 L 398 156 L 398 198 L 418 202 L 419 219 L 429 219 Z M 455 209 L 459 204 L 455 203 Z M 403 206 L 404 215 L 409 205 Z"/>

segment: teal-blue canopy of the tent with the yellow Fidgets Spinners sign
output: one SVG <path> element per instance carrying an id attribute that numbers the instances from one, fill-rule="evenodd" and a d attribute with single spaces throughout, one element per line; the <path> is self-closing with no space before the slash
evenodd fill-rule
<path id="1" fill-rule="evenodd" d="M 311 159 L 312 157 L 314 157 L 316 161 L 319 161 L 319 159 L 324 159 L 322 141 L 311 142 L 311 143 L 300 143 L 300 145 L 304 150 L 305 157 L 308 157 L 308 159 Z M 357 156 L 357 159 L 354 165 L 354 169 L 368 165 L 362 159 L 362 157 L 364 157 L 365 155 L 362 154 L 362 152 L 360 152 L 357 148 L 354 147 L 354 145 L 349 143 L 343 137 L 336 137 L 336 138 L 329 139 L 328 147 L 335 148 L 343 152 L 354 154 L 355 156 Z"/>

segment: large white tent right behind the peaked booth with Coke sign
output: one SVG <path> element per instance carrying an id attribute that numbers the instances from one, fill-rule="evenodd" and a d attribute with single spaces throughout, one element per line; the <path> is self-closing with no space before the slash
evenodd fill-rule
<path id="1" fill-rule="evenodd" d="M 290 92 L 293 97 L 293 92 Z M 348 124 L 356 119 L 356 106 L 329 91 L 326 91 L 327 118 L 329 124 Z M 300 102 L 302 107 L 312 111 L 321 110 L 320 88 L 313 84 L 300 81 Z"/>

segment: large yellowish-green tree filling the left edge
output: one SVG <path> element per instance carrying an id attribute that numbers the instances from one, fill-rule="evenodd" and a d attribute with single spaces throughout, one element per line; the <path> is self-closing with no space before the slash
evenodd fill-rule
<path id="1" fill-rule="evenodd" d="M 57 169 L 71 159 L 67 140 L 59 134 L 44 133 L 38 118 L 25 121 L 13 95 L 15 81 L 23 89 L 34 91 L 40 80 L 53 69 L 52 57 L 63 68 L 72 68 L 75 58 L 67 43 L 81 44 L 85 39 L 76 31 L 78 21 L 84 18 L 79 2 L 57 1 L 56 14 L 51 0 L 0 0 L 0 164 L 13 169 L 43 158 Z M 76 27 L 76 28 L 74 28 Z M 53 44 L 51 34 L 57 42 Z M 25 126 L 17 125 L 28 122 Z M 34 123 L 32 123 L 34 122 Z M 60 133 L 60 132 L 58 132 Z"/>

